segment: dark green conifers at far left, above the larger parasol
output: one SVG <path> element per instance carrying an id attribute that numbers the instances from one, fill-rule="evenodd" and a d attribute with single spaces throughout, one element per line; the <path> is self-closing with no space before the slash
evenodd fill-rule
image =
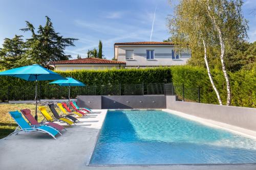
<path id="1" fill-rule="evenodd" d="M 24 42 L 22 37 L 13 39 L 6 38 L 3 48 L 0 49 L 0 67 L 14 68 L 30 64 L 40 64 L 46 66 L 50 61 L 68 60 L 70 55 L 65 55 L 67 46 L 74 46 L 74 38 L 64 38 L 55 32 L 51 19 L 46 16 L 46 25 L 39 26 L 38 31 L 29 21 L 27 27 L 20 29 L 24 32 L 30 31 L 31 38 Z"/>

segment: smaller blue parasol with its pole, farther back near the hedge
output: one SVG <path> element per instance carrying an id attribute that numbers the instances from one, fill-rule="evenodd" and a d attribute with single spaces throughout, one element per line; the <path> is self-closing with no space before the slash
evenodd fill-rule
<path id="1" fill-rule="evenodd" d="M 85 86 L 82 82 L 79 82 L 76 79 L 67 77 L 66 80 L 56 80 L 49 84 L 58 84 L 60 86 L 69 86 L 69 102 L 70 102 L 70 86 Z"/>

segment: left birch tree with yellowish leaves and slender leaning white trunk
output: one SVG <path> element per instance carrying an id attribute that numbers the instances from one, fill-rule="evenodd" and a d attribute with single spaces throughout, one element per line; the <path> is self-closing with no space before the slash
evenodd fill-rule
<path id="1" fill-rule="evenodd" d="M 204 53 L 204 61 L 210 83 L 217 95 L 219 104 L 222 105 L 220 93 L 215 86 L 207 59 L 207 53 L 210 51 L 210 46 L 214 44 L 214 38 L 211 36 L 213 30 L 209 24 L 209 18 L 202 17 L 205 13 L 206 9 L 202 1 L 180 1 L 175 7 L 174 15 L 168 18 L 168 26 L 172 34 L 172 41 L 179 44 L 176 45 L 176 50 L 190 48 L 193 53 Z"/>

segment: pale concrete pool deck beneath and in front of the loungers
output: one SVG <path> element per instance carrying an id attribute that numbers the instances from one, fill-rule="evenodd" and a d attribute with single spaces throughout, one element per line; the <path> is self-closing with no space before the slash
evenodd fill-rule
<path id="1" fill-rule="evenodd" d="M 57 140 L 37 132 L 1 139 L 0 169 L 256 169 L 256 164 L 88 166 L 107 110 L 94 111 L 101 113 L 80 118 Z"/>

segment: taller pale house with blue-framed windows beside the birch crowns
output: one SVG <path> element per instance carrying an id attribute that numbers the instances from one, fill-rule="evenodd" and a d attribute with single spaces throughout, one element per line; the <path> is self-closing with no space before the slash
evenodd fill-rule
<path id="1" fill-rule="evenodd" d="M 175 52 L 172 42 L 118 42 L 114 55 L 127 68 L 184 65 L 191 57 L 190 50 Z"/>

